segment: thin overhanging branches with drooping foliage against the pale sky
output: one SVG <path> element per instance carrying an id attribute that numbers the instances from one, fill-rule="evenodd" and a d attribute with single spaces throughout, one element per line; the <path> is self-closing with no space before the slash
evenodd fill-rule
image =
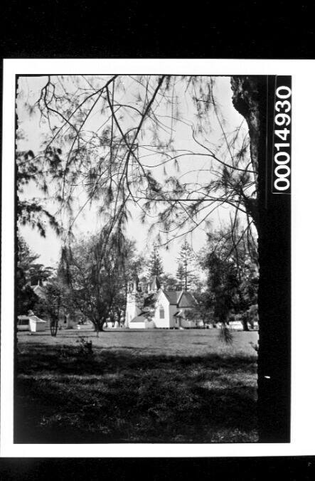
<path id="1" fill-rule="evenodd" d="M 128 206 L 138 206 L 143 221 L 153 216 L 151 228 L 166 243 L 203 226 L 222 203 L 254 218 L 247 129 L 241 117 L 229 129 L 217 98 L 222 81 L 195 75 L 43 77 L 28 106 L 45 134 L 41 150 L 26 155 L 26 171 L 35 169 L 39 186 L 53 189 L 54 201 L 70 216 L 66 230 L 91 202 L 111 231 L 120 216 L 129 217 Z M 29 92 L 31 81 L 19 82 L 18 105 L 25 105 L 23 88 Z M 177 128 L 190 138 L 188 149 L 178 142 Z M 196 169 L 196 162 L 205 165 Z M 34 225 L 33 204 L 23 206 L 21 217 Z M 44 232 L 41 221 L 38 228 Z"/>

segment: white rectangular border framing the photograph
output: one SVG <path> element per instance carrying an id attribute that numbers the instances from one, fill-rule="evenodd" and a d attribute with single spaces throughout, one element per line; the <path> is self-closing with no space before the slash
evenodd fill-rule
<path id="1" fill-rule="evenodd" d="M 16 75 L 292 75 L 291 443 L 14 444 L 14 150 Z M 315 60 L 5 59 L 1 245 L 1 457 L 187 458 L 314 455 Z M 232 95 L 232 93 L 231 93 Z"/>

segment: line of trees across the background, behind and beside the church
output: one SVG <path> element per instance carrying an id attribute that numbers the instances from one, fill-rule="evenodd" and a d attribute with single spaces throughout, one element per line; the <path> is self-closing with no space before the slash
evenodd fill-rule
<path id="1" fill-rule="evenodd" d="M 198 253 L 184 240 L 176 275 L 164 272 L 156 243 L 145 258 L 133 240 L 107 228 L 63 245 L 55 269 L 36 263 L 39 256 L 18 236 L 17 313 L 32 310 L 50 319 L 54 334 L 61 315 L 89 319 L 96 332 L 108 322 L 122 326 L 129 280 L 137 277 L 145 291 L 156 275 L 165 290 L 193 292 L 198 304 L 190 317 L 226 325 L 238 314 L 248 329 L 248 310 L 257 302 L 257 250 L 255 239 L 242 232 L 233 226 L 208 233 Z M 43 286 L 44 295 L 38 297 L 32 285 Z"/>

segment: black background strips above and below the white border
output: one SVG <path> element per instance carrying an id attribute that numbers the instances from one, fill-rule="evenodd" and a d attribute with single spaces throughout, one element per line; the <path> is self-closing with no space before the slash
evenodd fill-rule
<path id="1" fill-rule="evenodd" d="M 175 5 L 171 12 L 170 2 L 163 1 L 129 0 L 124 8 L 104 1 L 94 5 L 50 0 L 36 7 L 30 1 L 11 0 L 1 9 L 1 57 L 314 59 L 311 6 L 310 1 L 213 6 L 204 0 Z M 141 467 L 150 480 L 258 480 L 271 474 L 311 480 L 314 466 L 315 456 L 1 458 L 0 474 L 4 480 L 125 480 L 139 474 Z"/>

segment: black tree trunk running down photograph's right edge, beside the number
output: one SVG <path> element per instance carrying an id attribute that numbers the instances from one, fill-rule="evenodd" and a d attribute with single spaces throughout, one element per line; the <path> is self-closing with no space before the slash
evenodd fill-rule
<path id="1" fill-rule="evenodd" d="M 291 206 L 289 196 L 272 194 L 270 181 L 274 77 L 233 77 L 231 85 L 233 105 L 248 125 L 252 163 L 257 170 L 254 221 L 260 263 L 259 439 L 260 442 L 283 443 L 289 442 L 290 438 Z"/>

